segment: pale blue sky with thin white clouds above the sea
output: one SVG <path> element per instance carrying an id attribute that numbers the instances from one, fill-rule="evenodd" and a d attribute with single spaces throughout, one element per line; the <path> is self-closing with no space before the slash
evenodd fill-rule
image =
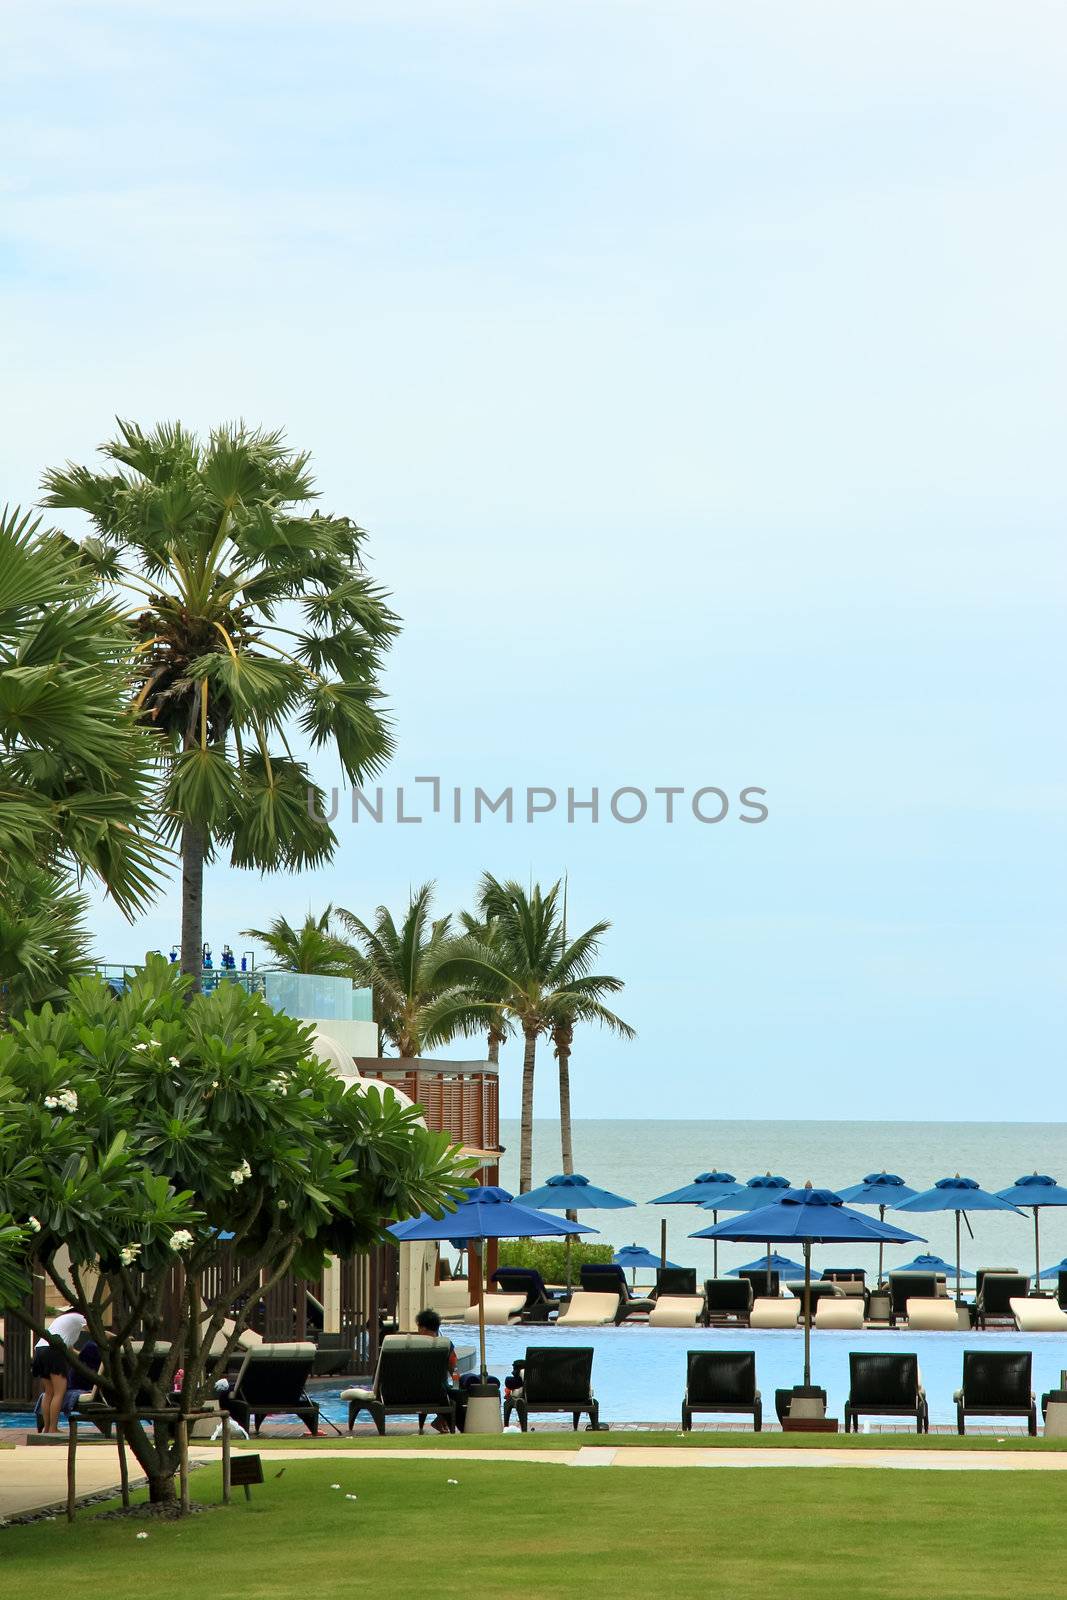
<path id="1" fill-rule="evenodd" d="M 285 426 L 403 616 L 394 821 L 213 869 L 216 950 L 568 874 L 638 1030 L 579 1034 L 577 1115 L 1059 1120 L 1062 10 L 10 0 L 3 32 L 0 499 L 115 414 Z M 464 821 L 397 824 L 416 776 Z M 561 800 L 475 826 L 507 786 Z M 173 885 L 93 928 L 168 947 Z"/>

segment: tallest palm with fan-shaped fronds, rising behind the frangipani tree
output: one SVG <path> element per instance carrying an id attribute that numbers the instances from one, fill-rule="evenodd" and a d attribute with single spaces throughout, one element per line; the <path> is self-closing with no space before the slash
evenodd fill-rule
<path id="1" fill-rule="evenodd" d="M 293 723 L 350 782 L 389 757 L 378 674 L 397 618 L 363 571 L 363 530 L 309 510 L 309 458 L 282 434 L 235 424 L 202 442 L 120 421 L 101 451 L 114 470 L 50 472 L 45 501 L 88 514 L 82 558 L 133 603 L 134 706 L 155 734 L 160 832 L 181 842 L 181 966 L 197 982 L 216 851 L 298 870 L 336 846 Z"/>

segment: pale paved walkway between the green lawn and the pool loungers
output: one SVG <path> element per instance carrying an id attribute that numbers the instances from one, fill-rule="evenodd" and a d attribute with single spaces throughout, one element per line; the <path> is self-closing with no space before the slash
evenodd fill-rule
<path id="1" fill-rule="evenodd" d="M 190 1462 L 211 1466 L 221 1451 L 194 1446 Z M 139 1467 L 128 1456 L 130 1477 L 136 1483 Z M 537 1462 L 552 1467 L 854 1467 L 859 1470 L 891 1469 L 897 1472 L 1067 1472 L 1067 1453 L 990 1450 L 672 1450 L 640 1445 L 581 1445 L 576 1450 L 270 1450 L 269 1461 L 435 1461 L 462 1467 L 469 1461 L 493 1461 L 522 1466 Z M 67 1451 L 61 1446 L 18 1445 L 0 1450 L 0 1520 L 26 1512 L 54 1509 L 64 1512 L 67 1496 Z M 114 1448 L 93 1445 L 78 1450 L 78 1498 L 118 1493 L 118 1456 Z"/>

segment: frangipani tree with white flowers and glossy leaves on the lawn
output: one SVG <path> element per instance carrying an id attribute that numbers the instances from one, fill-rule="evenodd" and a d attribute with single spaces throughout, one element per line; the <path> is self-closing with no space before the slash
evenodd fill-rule
<path id="1" fill-rule="evenodd" d="M 0 1301 L 29 1320 L 18 1296 L 42 1270 L 86 1318 L 104 1395 L 126 1413 L 154 1341 L 173 1342 L 152 1403 L 182 1370 L 194 1410 L 224 1323 L 234 1349 L 264 1286 L 290 1269 L 315 1277 L 328 1254 L 382 1238 L 384 1222 L 440 1214 L 464 1178 L 446 1134 L 389 1091 L 346 1088 L 306 1024 L 237 984 L 192 1002 L 186 989 L 154 958 L 120 1000 L 80 979 L 66 1010 L 0 1035 Z M 242 1277 L 205 1306 L 200 1277 L 229 1248 L 221 1230 Z M 173 1499 L 173 1440 L 133 1419 L 122 1432 L 150 1498 Z"/>

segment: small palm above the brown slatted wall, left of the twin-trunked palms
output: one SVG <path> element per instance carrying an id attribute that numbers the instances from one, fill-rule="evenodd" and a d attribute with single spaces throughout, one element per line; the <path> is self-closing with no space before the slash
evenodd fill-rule
<path id="1" fill-rule="evenodd" d="M 373 923 L 338 907 L 357 944 L 354 978 L 371 990 L 374 1021 L 403 1059 L 450 1037 L 435 1008 L 445 990 L 438 970 L 451 947 L 451 917 L 430 920 L 432 901 L 432 883 L 414 890 L 400 926 L 387 906 L 378 907 Z"/>

